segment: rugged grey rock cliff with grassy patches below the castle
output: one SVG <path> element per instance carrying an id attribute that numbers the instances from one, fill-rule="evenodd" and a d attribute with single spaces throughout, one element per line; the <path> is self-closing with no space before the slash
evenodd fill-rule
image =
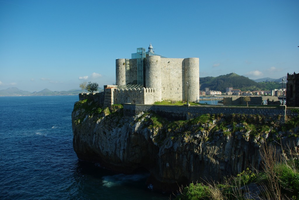
<path id="1" fill-rule="evenodd" d="M 155 189 L 172 190 L 202 179 L 220 181 L 250 166 L 259 169 L 265 138 L 280 137 L 290 148 L 299 145 L 298 137 L 287 136 L 291 133 L 271 134 L 275 128 L 267 126 L 249 129 L 247 123 L 230 124 L 223 116 L 170 122 L 154 113 L 126 118 L 122 109 L 110 113 L 93 106 L 88 101 L 76 103 L 72 113 L 78 158 L 122 173 L 146 169 Z"/>

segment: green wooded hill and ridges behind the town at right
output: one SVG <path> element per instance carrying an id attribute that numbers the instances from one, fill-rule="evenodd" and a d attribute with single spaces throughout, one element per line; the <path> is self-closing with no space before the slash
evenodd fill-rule
<path id="1" fill-rule="evenodd" d="M 282 77 L 282 78 L 286 80 L 286 77 Z M 209 90 L 225 92 L 226 88 L 229 87 L 232 87 L 234 89 L 240 89 L 241 91 L 256 91 L 256 90 L 268 91 L 268 90 L 282 88 L 281 78 L 280 79 L 263 78 L 263 79 L 251 80 L 247 77 L 240 76 L 235 73 L 221 75 L 218 77 L 202 77 L 199 78 L 199 83 L 200 83 L 200 90 L 202 91 L 204 91 L 205 88 L 209 88 Z"/>

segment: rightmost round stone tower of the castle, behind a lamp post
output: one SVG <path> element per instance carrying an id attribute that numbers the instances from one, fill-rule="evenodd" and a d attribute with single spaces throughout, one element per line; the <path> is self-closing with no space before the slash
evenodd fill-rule
<path id="1" fill-rule="evenodd" d="M 185 100 L 187 100 L 187 82 L 188 99 L 189 101 L 196 101 L 199 97 L 199 58 L 185 58 Z"/>

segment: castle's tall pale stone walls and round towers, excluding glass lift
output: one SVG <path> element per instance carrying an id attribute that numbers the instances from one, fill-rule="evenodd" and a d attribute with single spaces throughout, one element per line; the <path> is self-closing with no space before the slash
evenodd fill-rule
<path id="1" fill-rule="evenodd" d="M 144 87 L 155 88 L 156 101 L 160 97 L 161 100 L 187 100 L 187 82 L 190 83 L 189 100 L 197 100 L 197 96 L 199 96 L 199 58 L 149 56 L 145 62 Z M 187 69 L 185 65 L 187 65 Z M 116 59 L 117 85 L 130 84 L 134 81 L 137 81 L 137 59 L 129 59 L 129 68 L 125 66 L 125 59 Z"/>

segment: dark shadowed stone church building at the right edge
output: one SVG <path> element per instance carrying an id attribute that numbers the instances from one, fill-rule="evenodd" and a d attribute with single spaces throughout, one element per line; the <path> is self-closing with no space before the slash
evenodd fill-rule
<path id="1" fill-rule="evenodd" d="M 286 106 L 299 107 L 299 74 L 287 74 Z"/>

